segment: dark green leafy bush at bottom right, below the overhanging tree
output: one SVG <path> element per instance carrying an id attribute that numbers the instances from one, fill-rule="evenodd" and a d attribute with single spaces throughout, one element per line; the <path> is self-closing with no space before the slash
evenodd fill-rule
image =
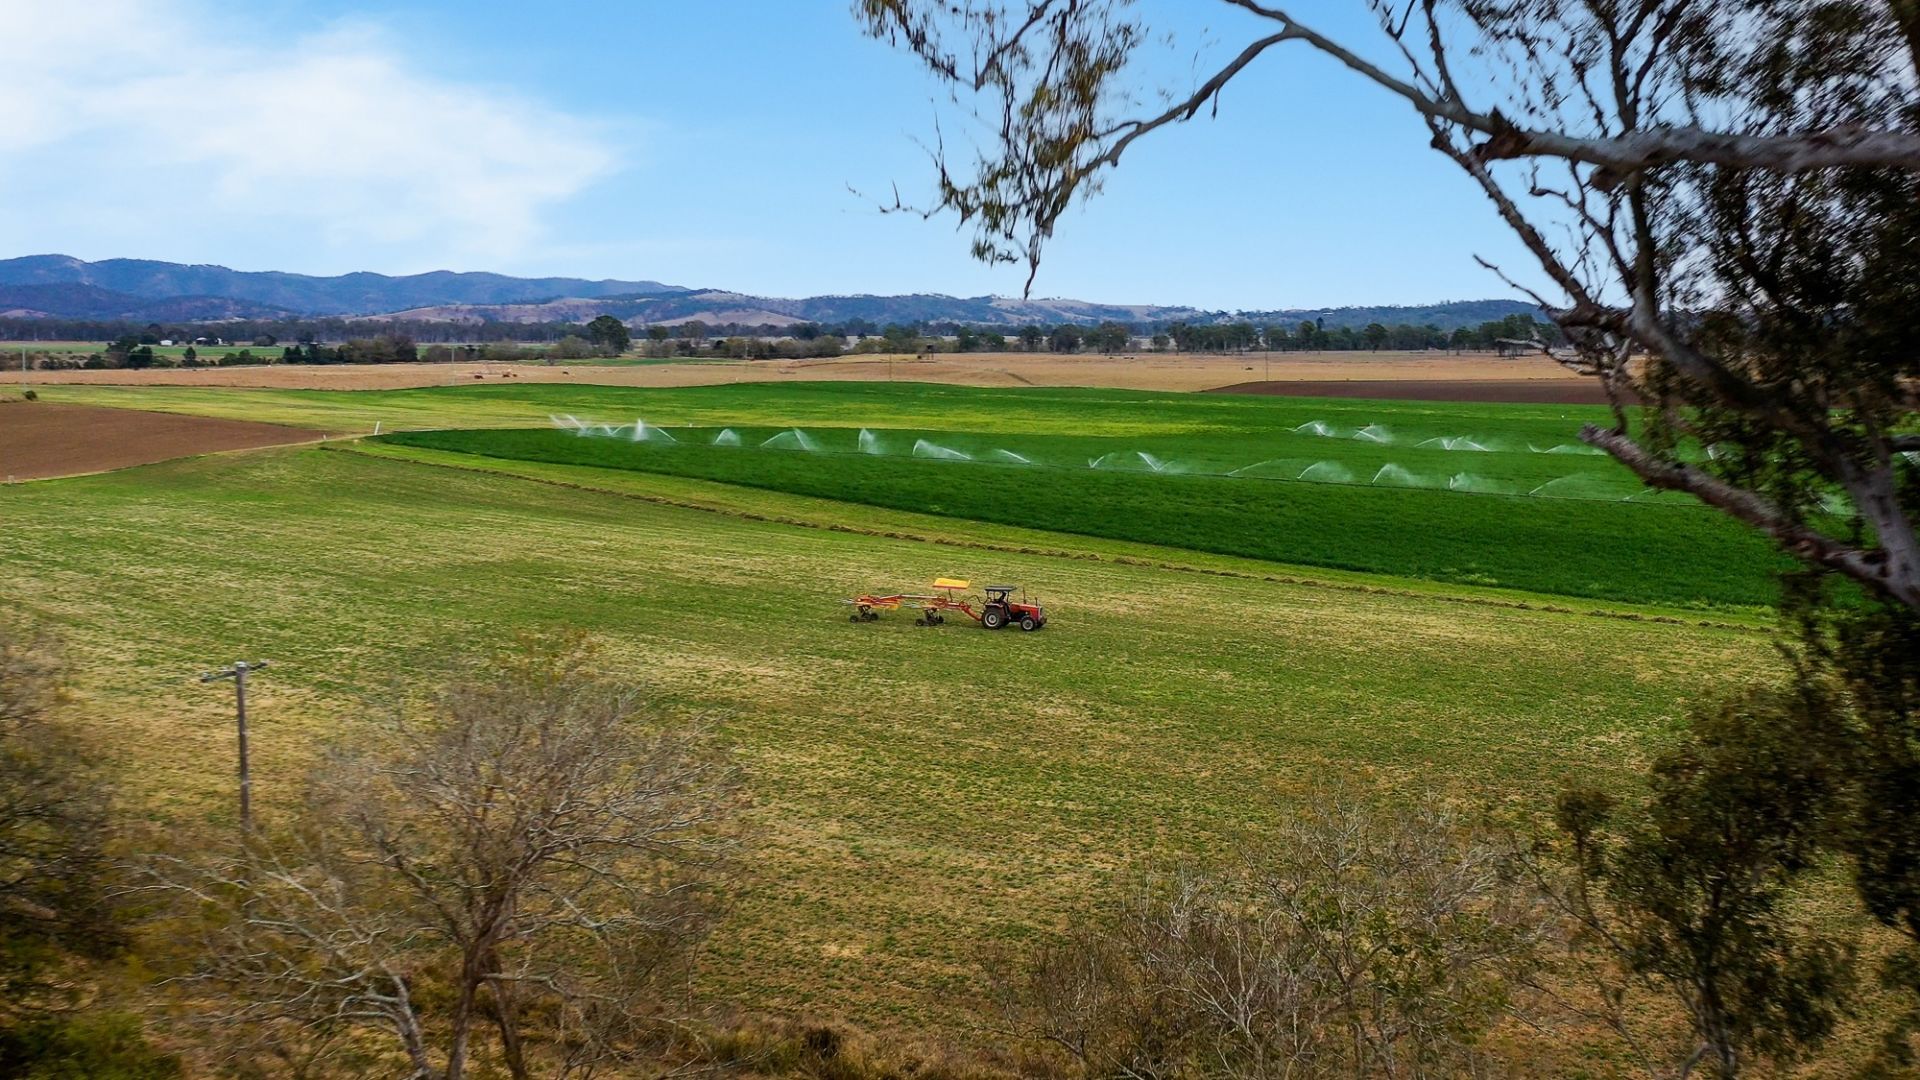
<path id="1" fill-rule="evenodd" d="M 1697 707 L 1644 798 L 1559 796 L 1565 872 L 1538 876 L 1603 957 L 1601 1015 L 1642 1055 L 1730 1078 L 1789 1067 L 1834 1034 L 1855 944 L 1795 905 L 1824 865 L 1849 755 L 1816 686 L 1753 690 Z"/>

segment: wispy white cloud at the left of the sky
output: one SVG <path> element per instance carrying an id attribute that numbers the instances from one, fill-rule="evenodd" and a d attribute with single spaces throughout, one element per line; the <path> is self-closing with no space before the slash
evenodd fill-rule
<path id="1" fill-rule="evenodd" d="M 513 263 L 616 167 L 597 125 L 426 75 L 374 23 L 280 38 L 194 0 L 0 0 L 0 256 L 252 231 L 307 265 Z"/>

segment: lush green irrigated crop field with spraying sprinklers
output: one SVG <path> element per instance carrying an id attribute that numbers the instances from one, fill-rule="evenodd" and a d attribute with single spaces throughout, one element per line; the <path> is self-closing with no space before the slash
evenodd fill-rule
<path id="1" fill-rule="evenodd" d="M 1676 496 L 1644 492 L 1624 469 L 1580 446 L 1580 425 L 1605 419 L 1597 407 L 822 382 L 367 392 L 67 386 L 50 398 L 340 432 L 538 425 L 547 430 L 407 438 L 1634 603 L 1761 609 L 1774 601 L 1772 575 L 1786 565 L 1747 530 Z M 557 417 L 618 427 L 622 436 L 555 434 Z M 680 436 L 634 444 L 636 419 Z M 780 434 L 789 429 L 820 454 L 760 450 L 766 440 L 799 446 L 801 436 Z M 695 446 L 722 430 L 741 446 Z"/>

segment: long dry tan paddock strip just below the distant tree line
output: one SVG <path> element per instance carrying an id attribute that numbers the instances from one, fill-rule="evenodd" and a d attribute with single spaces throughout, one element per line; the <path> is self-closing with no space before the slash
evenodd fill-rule
<path id="1" fill-rule="evenodd" d="M 401 390 L 493 380 L 584 382 L 603 386 L 705 386 L 714 382 L 849 382 L 889 379 L 962 386 L 1106 386 L 1121 390 L 1213 390 L 1250 380 L 1332 384 L 1344 380 L 1473 386 L 1478 382 L 1586 380 L 1544 357 L 1490 354 L 1323 352 L 1323 354 L 937 354 L 845 356 L 829 359 L 651 361 L 651 363 L 388 363 L 169 367 L 148 371 L 35 371 L 36 384 L 115 386 L 275 386 L 305 390 Z M 1275 390 L 1284 392 L 1284 390 Z M 1471 390 L 1469 390 L 1471 392 Z M 1542 390 L 1546 392 L 1546 390 Z M 1361 394 L 1346 394 L 1361 396 Z M 1373 394 L 1386 396 L 1386 394 Z M 1500 398 L 1494 398 L 1500 400 Z"/>

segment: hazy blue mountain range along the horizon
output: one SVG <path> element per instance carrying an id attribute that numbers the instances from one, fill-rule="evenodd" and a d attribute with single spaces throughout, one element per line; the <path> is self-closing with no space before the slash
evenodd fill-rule
<path id="1" fill-rule="evenodd" d="M 154 259 L 25 256 L 0 259 L 0 317 L 136 323 L 204 323 L 232 319 L 420 319 L 461 323 L 584 323 L 614 315 L 634 325 L 685 323 L 774 325 L 847 323 L 1171 323 L 1233 321 L 1323 327 L 1432 323 L 1444 331 L 1513 313 L 1538 311 L 1515 300 L 1463 300 L 1402 307 L 1331 307 L 1273 311 L 1204 311 L 1152 304 L 1085 300 L 1014 300 L 1004 296 L 808 296 L 781 300 L 718 288 L 684 288 L 659 281 L 588 281 L 578 277 L 507 277 L 497 273 L 348 273 L 313 277 L 278 271 L 234 271 L 217 265 Z"/>

